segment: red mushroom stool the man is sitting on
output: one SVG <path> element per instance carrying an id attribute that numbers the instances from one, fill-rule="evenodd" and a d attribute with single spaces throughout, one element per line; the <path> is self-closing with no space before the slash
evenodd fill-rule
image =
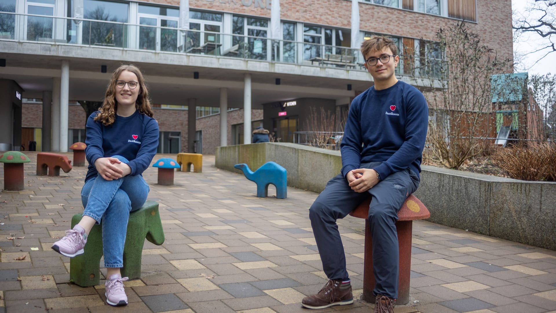
<path id="1" fill-rule="evenodd" d="M 371 198 L 365 200 L 354 211 L 349 213 L 353 217 L 365 219 L 365 261 L 363 271 L 363 300 L 375 303 L 373 289 L 375 276 L 373 275 L 373 238 L 370 235 L 369 204 Z M 400 275 L 398 279 L 398 300 L 396 304 L 403 305 L 409 302 L 409 275 L 411 268 L 411 229 L 414 219 L 429 218 L 429 210 L 413 194 L 405 200 L 398 212 L 398 246 L 400 253 Z"/>

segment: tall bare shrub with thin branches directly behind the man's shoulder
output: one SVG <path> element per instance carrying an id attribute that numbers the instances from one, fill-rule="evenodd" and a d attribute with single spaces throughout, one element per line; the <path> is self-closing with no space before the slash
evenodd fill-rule
<path id="1" fill-rule="evenodd" d="M 404 66 L 424 87 L 429 104 L 423 157 L 459 169 L 483 153 L 483 138 L 494 133 L 490 78 L 510 70 L 511 60 L 498 56 L 464 22 L 441 28 L 433 41 L 421 39 L 419 48 L 404 51 L 409 52 Z"/>

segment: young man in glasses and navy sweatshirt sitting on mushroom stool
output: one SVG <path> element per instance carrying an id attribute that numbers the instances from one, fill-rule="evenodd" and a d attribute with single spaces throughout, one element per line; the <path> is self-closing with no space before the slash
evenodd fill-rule
<path id="1" fill-rule="evenodd" d="M 398 211 L 419 185 L 428 125 L 425 97 L 396 79 L 398 47 L 388 37 L 361 44 L 374 86 L 355 97 L 340 144 L 341 174 L 332 178 L 309 209 L 322 267 L 329 281 L 301 304 L 310 309 L 353 303 L 344 248 L 336 220 L 364 199 L 373 237 L 375 313 L 393 313 L 398 297 Z"/>

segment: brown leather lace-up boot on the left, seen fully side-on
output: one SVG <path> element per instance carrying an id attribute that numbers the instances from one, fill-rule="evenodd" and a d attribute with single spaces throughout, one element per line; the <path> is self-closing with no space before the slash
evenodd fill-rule
<path id="1" fill-rule="evenodd" d="M 322 309 L 332 305 L 346 305 L 353 303 L 351 283 L 340 280 L 329 280 L 318 294 L 304 297 L 301 305 L 309 309 Z"/>

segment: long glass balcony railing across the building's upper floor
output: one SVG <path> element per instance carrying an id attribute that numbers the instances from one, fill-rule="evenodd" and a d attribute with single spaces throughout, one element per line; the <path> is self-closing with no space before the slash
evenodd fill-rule
<path id="1" fill-rule="evenodd" d="M 349 47 L 35 14 L 0 12 L 0 40 L 187 53 L 365 70 L 359 49 Z"/>

